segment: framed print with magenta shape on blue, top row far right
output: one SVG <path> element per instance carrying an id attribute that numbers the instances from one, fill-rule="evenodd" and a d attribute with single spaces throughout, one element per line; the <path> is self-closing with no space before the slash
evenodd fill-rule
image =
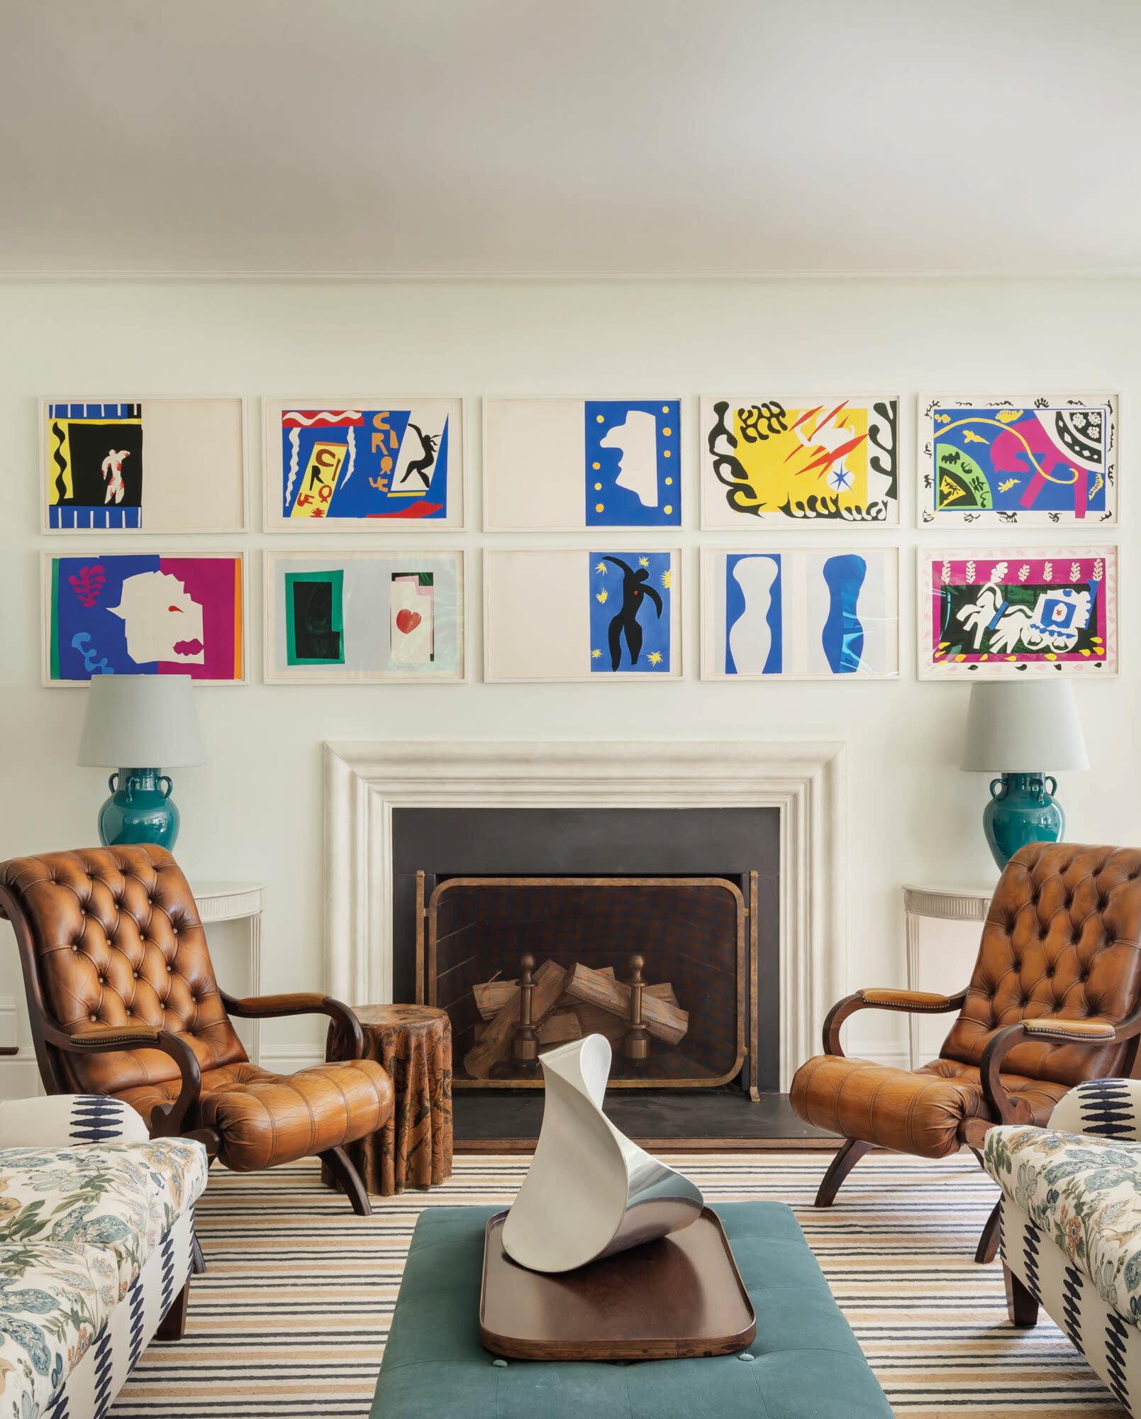
<path id="1" fill-rule="evenodd" d="M 1117 521 L 1117 394 L 920 396 L 924 525 Z"/>

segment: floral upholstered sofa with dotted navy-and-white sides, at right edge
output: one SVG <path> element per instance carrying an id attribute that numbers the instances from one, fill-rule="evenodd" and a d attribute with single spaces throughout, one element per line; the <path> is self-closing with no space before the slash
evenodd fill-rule
<path id="1" fill-rule="evenodd" d="M 1039 1305 L 1141 1415 L 1141 1081 L 1090 1080 L 1046 1128 L 992 1128 L 1002 1269 L 1015 1325 Z"/>

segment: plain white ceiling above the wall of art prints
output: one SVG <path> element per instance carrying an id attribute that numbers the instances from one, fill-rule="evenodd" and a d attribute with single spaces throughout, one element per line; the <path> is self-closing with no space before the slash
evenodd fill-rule
<path id="1" fill-rule="evenodd" d="M 1135 0 L 0 0 L 0 272 L 1141 272 Z"/>

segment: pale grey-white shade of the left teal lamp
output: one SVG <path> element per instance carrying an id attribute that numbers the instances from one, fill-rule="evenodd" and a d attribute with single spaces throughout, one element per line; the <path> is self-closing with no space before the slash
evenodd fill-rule
<path id="1" fill-rule="evenodd" d="M 79 763 L 179 769 L 206 751 L 189 675 L 92 675 Z"/>

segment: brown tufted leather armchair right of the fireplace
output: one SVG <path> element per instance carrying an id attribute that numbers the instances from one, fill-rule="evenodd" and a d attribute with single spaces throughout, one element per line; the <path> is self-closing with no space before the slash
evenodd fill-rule
<path id="1" fill-rule="evenodd" d="M 951 1012 L 939 1057 L 917 1070 L 846 1059 L 856 1010 Z M 1141 851 L 1032 843 L 999 878 L 971 983 L 954 996 L 857 990 L 825 1020 L 825 1053 L 792 1081 L 798 1118 L 844 1135 L 816 1206 L 870 1148 L 976 1156 L 993 1124 L 1049 1121 L 1087 1078 L 1132 1076 L 1141 1039 Z M 981 1161 L 981 1159 L 979 1159 Z M 998 1208 L 976 1261 L 998 1250 Z"/>

